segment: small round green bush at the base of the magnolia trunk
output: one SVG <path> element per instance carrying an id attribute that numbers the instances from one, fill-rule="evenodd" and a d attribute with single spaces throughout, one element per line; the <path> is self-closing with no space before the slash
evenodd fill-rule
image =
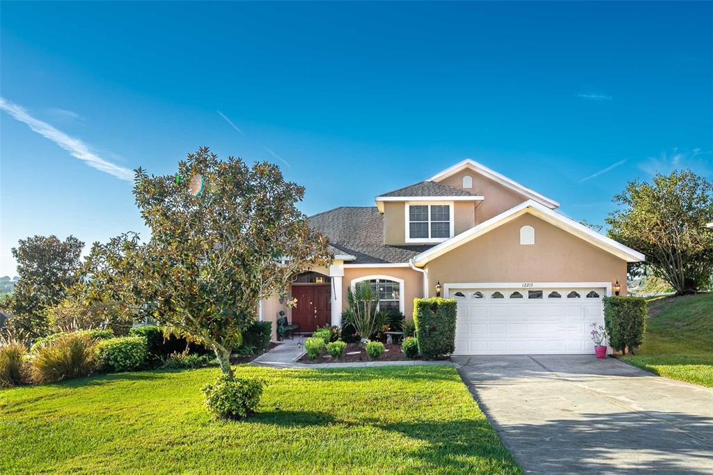
<path id="1" fill-rule="evenodd" d="M 205 406 L 216 419 L 242 419 L 255 413 L 264 383 L 258 379 L 221 376 L 203 387 Z"/>

